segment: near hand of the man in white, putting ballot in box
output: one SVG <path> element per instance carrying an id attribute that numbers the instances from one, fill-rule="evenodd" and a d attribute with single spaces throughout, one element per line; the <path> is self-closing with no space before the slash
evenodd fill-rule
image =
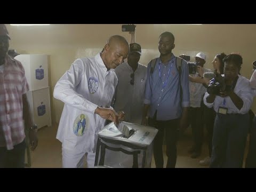
<path id="1" fill-rule="evenodd" d="M 114 109 L 97 107 L 94 113 L 98 114 L 103 119 L 113 121 L 115 124 L 119 123 L 118 114 Z"/>

